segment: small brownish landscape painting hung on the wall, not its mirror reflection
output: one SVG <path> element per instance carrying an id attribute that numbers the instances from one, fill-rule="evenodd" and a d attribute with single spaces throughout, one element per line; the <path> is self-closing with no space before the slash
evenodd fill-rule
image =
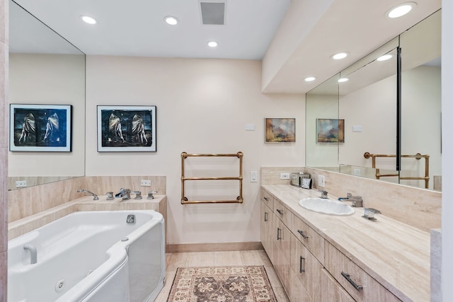
<path id="1" fill-rule="evenodd" d="M 265 143 L 294 143 L 296 141 L 296 119 L 264 119 Z"/>

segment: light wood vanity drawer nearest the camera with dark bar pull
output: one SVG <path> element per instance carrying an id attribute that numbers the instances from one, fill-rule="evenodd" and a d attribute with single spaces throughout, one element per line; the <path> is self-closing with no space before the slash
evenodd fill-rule
<path id="1" fill-rule="evenodd" d="M 333 245 L 324 246 L 324 266 L 355 301 L 400 301 Z"/>

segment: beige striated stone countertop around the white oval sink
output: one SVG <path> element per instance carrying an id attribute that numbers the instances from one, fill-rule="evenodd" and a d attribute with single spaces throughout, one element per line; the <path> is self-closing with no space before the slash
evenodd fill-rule
<path id="1" fill-rule="evenodd" d="M 350 216 L 333 216 L 300 207 L 300 199 L 321 196 L 316 189 L 261 187 L 402 301 L 430 301 L 430 233 L 385 213 L 375 215 L 375 221 L 363 219 L 364 208 L 355 208 Z M 328 198 L 338 199 L 331 194 Z"/>

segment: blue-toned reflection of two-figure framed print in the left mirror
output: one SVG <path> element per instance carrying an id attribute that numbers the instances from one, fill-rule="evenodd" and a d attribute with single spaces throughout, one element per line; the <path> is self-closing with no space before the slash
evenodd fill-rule
<path id="1" fill-rule="evenodd" d="M 9 105 L 9 150 L 71 152 L 71 105 Z"/>

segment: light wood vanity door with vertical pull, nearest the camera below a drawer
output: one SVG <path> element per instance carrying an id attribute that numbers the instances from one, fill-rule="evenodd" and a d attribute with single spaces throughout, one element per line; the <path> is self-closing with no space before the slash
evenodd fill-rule
<path id="1" fill-rule="evenodd" d="M 316 257 L 294 236 L 291 236 L 291 269 L 313 301 L 321 301 L 321 269 Z"/>

